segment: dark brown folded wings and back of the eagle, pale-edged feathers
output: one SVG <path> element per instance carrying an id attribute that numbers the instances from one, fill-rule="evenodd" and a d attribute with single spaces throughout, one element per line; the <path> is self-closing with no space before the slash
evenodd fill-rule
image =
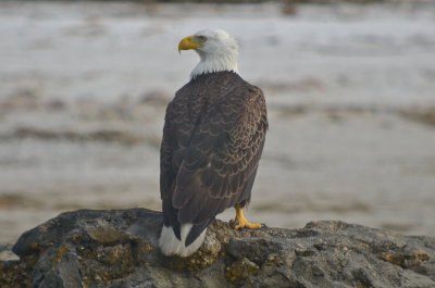
<path id="1" fill-rule="evenodd" d="M 194 87 L 188 90 L 194 101 L 176 97 L 169 107 L 161 148 L 169 218 L 208 224 L 226 208 L 250 200 L 268 120 L 262 91 L 241 82 L 219 83 L 217 93 L 210 96 Z M 212 85 L 217 84 L 202 86 Z M 165 212 L 165 205 L 173 211 Z"/>

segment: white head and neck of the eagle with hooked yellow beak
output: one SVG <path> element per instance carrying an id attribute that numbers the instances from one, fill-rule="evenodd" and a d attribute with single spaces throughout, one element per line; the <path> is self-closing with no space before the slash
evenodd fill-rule
<path id="1" fill-rule="evenodd" d="M 190 77 L 198 75 L 233 71 L 237 73 L 238 45 L 236 39 L 221 29 L 204 29 L 184 38 L 178 51 L 194 49 L 201 58 L 191 71 Z"/>

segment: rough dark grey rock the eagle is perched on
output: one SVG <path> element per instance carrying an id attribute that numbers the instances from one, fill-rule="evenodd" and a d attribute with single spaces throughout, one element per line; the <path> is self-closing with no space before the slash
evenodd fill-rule
<path id="1" fill-rule="evenodd" d="M 62 213 L 0 246 L 0 287 L 435 287 L 435 238 L 344 222 L 235 230 L 189 258 L 160 253 L 160 212 Z"/>

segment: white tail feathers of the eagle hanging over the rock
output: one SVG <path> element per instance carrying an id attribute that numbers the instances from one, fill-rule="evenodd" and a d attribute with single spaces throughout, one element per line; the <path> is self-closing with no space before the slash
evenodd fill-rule
<path id="1" fill-rule="evenodd" d="M 170 255 L 189 256 L 195 251 L 197 251 L 199 247 L 201 247 L 206 238 L 207 228 L 198 236 L 197 239 L 195 239 L 195 241 L 191 245 L 186 247 L 185 246 L 186 238 L 187 235 L 189 235 L 189 231 L 192 226 L 194 225 L 190 223 L 183 224 L 181 229 L 182 240 L 178 240 L 172 227 L 163 225 L 162 233 L 160 234 L 160 239 L 159 239 L 159 247 L 160 250 L 162 250 L 162 253 L 165 254 L 166 256 Z"/>

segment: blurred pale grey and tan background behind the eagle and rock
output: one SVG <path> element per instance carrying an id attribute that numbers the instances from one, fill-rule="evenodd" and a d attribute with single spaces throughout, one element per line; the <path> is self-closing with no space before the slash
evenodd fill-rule
<path id="1" fill-rule="evenodd" d="M 435 1 L 231 2 L 0 2 L 0 242 L 160 210 L 165 107 L 198 62 L 177 45 L 206 27 L 266 96 L 249 220 L 435 236 Z"/>

